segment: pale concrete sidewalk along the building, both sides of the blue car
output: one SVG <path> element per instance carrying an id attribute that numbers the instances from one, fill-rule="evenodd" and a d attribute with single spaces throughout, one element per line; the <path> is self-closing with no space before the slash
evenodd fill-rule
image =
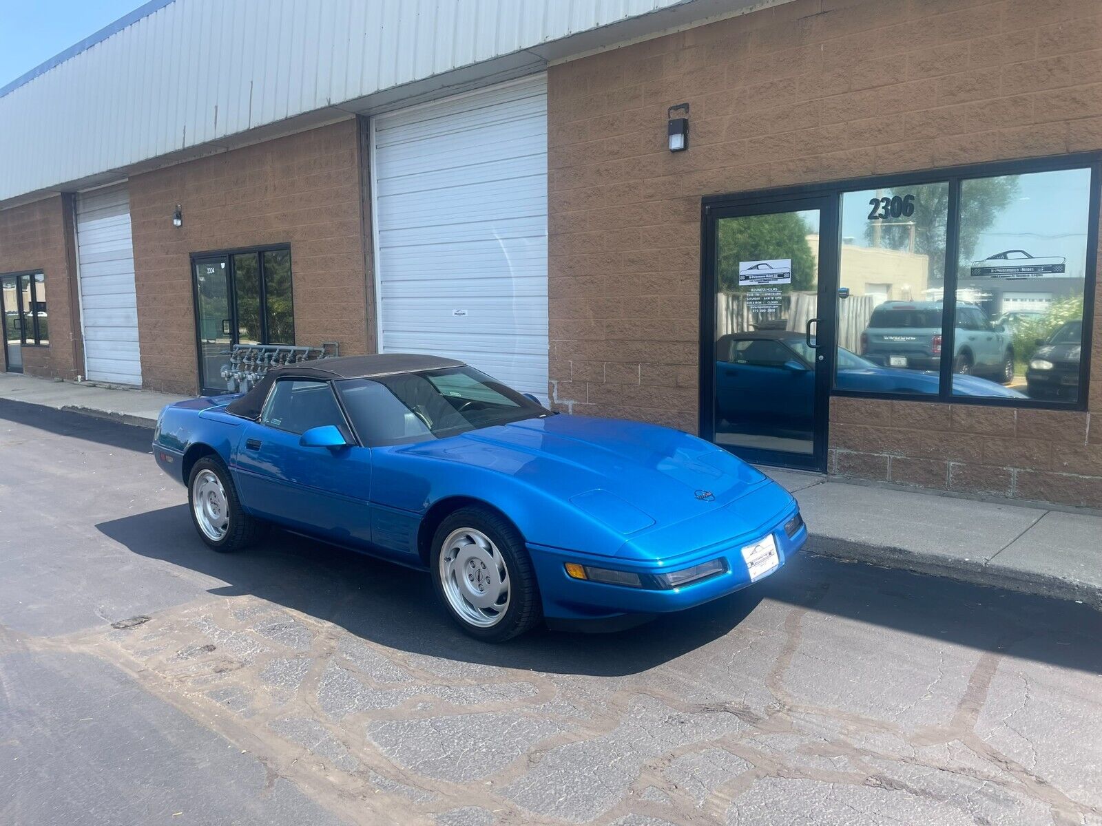
<path id="1" fill-rule="evenodd" d="M 0 373 L 0 399 L 152 427 L 183 396 Z M 950 497 L 765 468 L 800 502 L 808 552 L 1102 610 L 1102 513 Z"/>

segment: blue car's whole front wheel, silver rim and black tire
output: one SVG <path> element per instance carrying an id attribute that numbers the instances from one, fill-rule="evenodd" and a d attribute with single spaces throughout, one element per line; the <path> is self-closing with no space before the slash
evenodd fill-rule
<path id="1" fill-rule="evenodd" d="M 466 633 L 501 642 L 540 621 L 536 572 L 517 529 L 482 508 L 446 517 L 432 541 L 433 586 Z"/>

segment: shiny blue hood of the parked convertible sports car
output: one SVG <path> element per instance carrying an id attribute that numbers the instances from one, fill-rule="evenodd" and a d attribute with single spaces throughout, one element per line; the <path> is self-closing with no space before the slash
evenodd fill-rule
<path id="1" fill-rule="evenodd" d="M 771 485 L 695 436 L 612 419 L 530 419 L 402 449 L 506 474 L 625 535 L 725 508 Z"/>

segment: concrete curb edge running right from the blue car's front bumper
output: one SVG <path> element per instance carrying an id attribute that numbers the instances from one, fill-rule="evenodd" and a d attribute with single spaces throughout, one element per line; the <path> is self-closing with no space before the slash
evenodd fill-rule
<path id="1" fill-rule="evenodd" d="M 804 551 L 817 556 L 829 556 L 845 562 L 860 562 L 884 568 L 901 568 L 972 585 L 1005 588 L 1019 594 L 1034 594 L 1052 599 L 1083 602 L 1102 610 L 1102 587 L 1100 586 L 1052 574 L 1018 570 L 997 563 L 985 563 L 983 559 L 954 558 L 905 551 L 898 547 L 879 547 L 864 542 L 853 542 L 836 536 L 815 536 L 814 534 L 809 536 Z"/>

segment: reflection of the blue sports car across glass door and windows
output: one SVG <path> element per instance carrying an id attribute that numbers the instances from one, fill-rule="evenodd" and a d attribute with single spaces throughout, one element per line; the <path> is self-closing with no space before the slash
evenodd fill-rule
<path id="1" fill-rule="evenodd" d="M 811 428 L 815 356 L 802 333 L 728 333 L 716 341 L 715 403 L 719 419 L 732 424 L 781 423 Z M 883 367 L 838 348 L 834 385 L 879 393 L 938 392 L 938 373 Z M 957 395 L 1025 399 L 1016 390 L 976 376 L 953 379 Z"/>

